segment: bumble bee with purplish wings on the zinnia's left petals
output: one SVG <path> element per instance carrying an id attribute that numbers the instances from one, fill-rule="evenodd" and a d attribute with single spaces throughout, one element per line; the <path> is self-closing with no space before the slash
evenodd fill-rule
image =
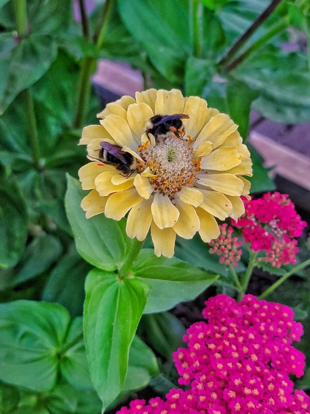
<path id="1" fill-rule="evenodd" d="M 100 142 L 99 156 L 95 158 L 103 164 L 115 166 L 125 175 L 131 175 L 136 167 L 136 159 L 129 152 L 123 151 L 122 147 L 109 142 Z M 91 157 L 93 158 L 93 157 Z"/>

